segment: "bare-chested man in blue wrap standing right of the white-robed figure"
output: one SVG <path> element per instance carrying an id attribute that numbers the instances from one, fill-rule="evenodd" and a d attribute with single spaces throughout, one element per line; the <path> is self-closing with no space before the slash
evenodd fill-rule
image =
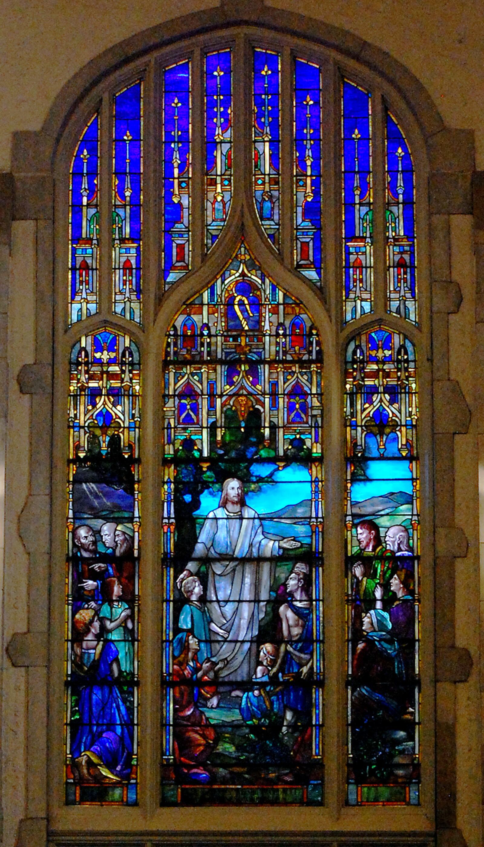
<path id="1" fill-rule="evenodd" d="M 312 667 L 313 614 L 309 598 L 309 576 L 293 570 L 287 578 L 287 603 L 279 610 L 284 639 L 273 674 L 284 662 L 284 723 L 286 734 L 296 718 L 311 711 L 311 687 L 305 684 Z M 297 683 L 302 684 L 297 684 Z"/>

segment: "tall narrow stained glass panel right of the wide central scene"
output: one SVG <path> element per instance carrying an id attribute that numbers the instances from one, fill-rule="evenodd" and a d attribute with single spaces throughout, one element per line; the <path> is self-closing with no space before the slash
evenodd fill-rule
<path id="1" fill-rule="evenodd" d="M 380 326 L 348 346 L 348 804 L 417 805 L 419 473 L 414 346 Z"/>

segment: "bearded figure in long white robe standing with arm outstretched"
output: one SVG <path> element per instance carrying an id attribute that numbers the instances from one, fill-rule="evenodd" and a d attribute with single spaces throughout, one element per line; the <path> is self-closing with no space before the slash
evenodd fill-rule
<path id="1" fill-rule="evenodd" d="M 198 535 L 191 562 L 176 580 L 197 573 L 207 562 L 207 609 L 212 621 L 228 633 L 211 632 L 212 655 L 226 660 L 220 678 L 247 681 L 257 663 L 259 622 L 270 595 L 271 560 L 300 546 L 293 537 L 264 535 L 259 515 L 246 506 L 240 479 L 225 479 L 217 509 L 209 512 Z"/>

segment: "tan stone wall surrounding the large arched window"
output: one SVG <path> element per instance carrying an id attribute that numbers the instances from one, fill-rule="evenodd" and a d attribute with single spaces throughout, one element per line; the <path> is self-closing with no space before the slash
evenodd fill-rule
<path id="1" fill-rule="evenodd" d="M 484 174 L 478 169 L 484 169 L 484 125 L 479 112 L 484 88 L 480 61 L 484 16 L 477 14 L 470 0 L 443 8 L 437 0 L 425 6 L 409 0 L 404 8 L 398 0 L 364 4 L 278 0 L 277 5 L 286 13 L 272 8 L 275 3 L 261 11 L 257 3 L 247 8 L 229 0 L 221 14 L 225 19 L 235 15 L 264 20 L 287 31 L 305 27 L 308 35 L 371 69 L 380 69 L 413 103 L 426 139 L 431 163 L 436 473 L 437 844 L 479 847 L 484 684 L 480 660 L 484 533 L 479 526 L 480 462 L 484 467 Z M 201 20 L 209 20 L 210 15 L 214 19 L 218 11 L 201 11 L 209 6 L 181 0 L 176 11 L 200 11 Z M 301 13 L 313 19 L 302 19 Z M 6 847 L 16 841 L 19 847 L 44 847 L 47 832 L 53 345 L 49 150 L 62 129 L 59 115 L 68 104 L 75 105 L 81 80 L 96 78 L 103 67 L 114 66 L 125 54 L 126 47 L 112 45 L 133 36 L 129 49 L 135 50 L 136 44 L 141 47 L 146 36 L 139 36 L 137 42 L 134 34 L 163 24 L 169 15 L 170 7 L 160 8 L 152 0 L 129 8 L 117 0 L 79 4 L 53 0 L 35 8 L 6 0 L 3 8 L 0 167 L 6 173 L 0 174 L 0 468 L 6 452 L 7 499 L 0 716 Z M 175 32 L 176 27 L 176 23 L 162 25 L 150 37 L 155 38 L 157 31 Z M 104 50 L 108 54 L 99 58 Z M 69 81 L 88 62 L 77 80 Z M 484 506 L 481 512 L 484 523 Z M 267 819 L 269 823 L 270 811 Z M 154 839 L 154 843 L 159 842 Z"/>

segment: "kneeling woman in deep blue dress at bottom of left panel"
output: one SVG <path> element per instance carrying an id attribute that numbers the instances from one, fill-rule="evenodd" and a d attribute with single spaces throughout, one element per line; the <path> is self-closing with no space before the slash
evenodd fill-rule
<path id="1" fill-rule="evenodd" d="M 74 617 L 74 667 L 86 678 L 79 696 L 81 725 L 71 746 L 81 782 L 130 777 L 133 727 L 120 690 L 120 654 L 113 641 L 99 642 L 101 624 L 92 609 Z"/>

